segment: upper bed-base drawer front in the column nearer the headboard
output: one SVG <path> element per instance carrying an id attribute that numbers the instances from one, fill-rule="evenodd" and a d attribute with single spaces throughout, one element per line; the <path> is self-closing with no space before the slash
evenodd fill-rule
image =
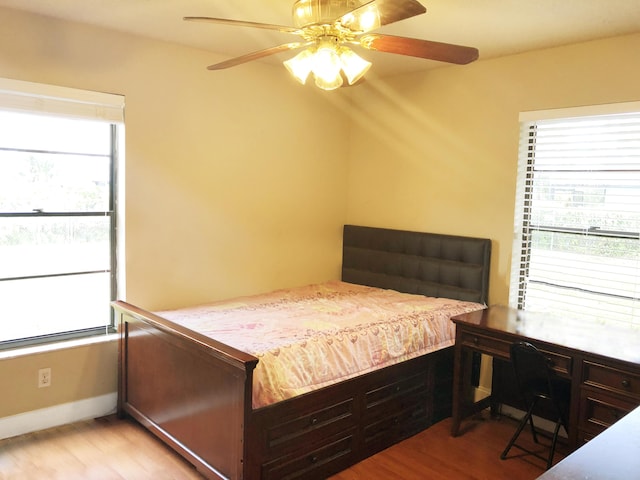
<path id="1" fill-rule="evenodd" d="M 427 377 L 418 373 L 389 383 L 365 394 L 365 420 L 371 420 L 407 408 L 424 408 L 428 393 Z"/>

